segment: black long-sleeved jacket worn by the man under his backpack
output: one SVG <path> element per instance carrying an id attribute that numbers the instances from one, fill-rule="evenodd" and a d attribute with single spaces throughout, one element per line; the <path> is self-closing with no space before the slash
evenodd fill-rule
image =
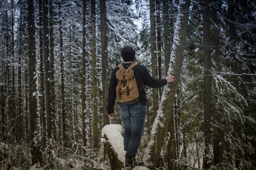
<path id="1" fill-rule="evenodd" d="M 130 66 L 131 63 L 122 63 L 122 65 L 125 68 L 127 66 Z M 108 107 L 107 107 L 108 114 L 114 113 L 114 105 L 116 101 L 116 85 L 118 82 L 118 80 L 116 79 L 116 71 L 118 70 L 119 70 L 119 67 L 114 68 L 110 77 L 109 88 L 108 88 Z M 161 88 L 167 84 L 167 80 L 154 79 L 154 77 L 151 77 L 151 75 L 149 74 L 148 69 L 145 68 L 143 65 L 137 64 L 134 66 L 133 70 L 134 70 L 134 76 L 137 81 L 137 86 L 139 91 L 140 91 L 140 88 L 142 87 L 140 91 L 140 103 L 143 105 L 146 105 L 147 99 L 146 99 L 146 92 L 144 90 L 143 84 L 151 88 Z"/>

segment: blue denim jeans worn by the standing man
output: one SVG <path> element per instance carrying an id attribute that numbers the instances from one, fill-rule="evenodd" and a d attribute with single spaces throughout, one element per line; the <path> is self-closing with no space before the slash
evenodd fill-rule
<path id="1" fill-rule="evenodd" d="M 135 156 L 144 134 L 146 106 L 121 105 L 121 117 L 125 126 L 124 149 L 126 156 Z"/>

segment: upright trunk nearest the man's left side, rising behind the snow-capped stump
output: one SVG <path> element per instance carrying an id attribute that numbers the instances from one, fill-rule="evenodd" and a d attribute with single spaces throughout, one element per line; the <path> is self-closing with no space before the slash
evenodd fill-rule
<path id="1" fill-rule="evenodd" d="M 107 113 L 107 101 L 108 101 L 108 37 L 107 37 L 107 14 L 106 14 L 106 0 L 100 0 L 100 34 L 101 34 L 101 55 L 102 55 L 102 99 L 103 99 L 103 115 L 104 125 L 109 123 Z"/>

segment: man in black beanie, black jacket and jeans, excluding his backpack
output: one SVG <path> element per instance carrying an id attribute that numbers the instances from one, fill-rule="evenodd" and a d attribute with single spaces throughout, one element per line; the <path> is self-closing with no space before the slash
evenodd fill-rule
<path id="1" fill-rule="evenodd" d="M 135 58 L 135 51 L 132 47 L 126 46 L 121 50 L 121 56 L 124 61 L 122 65 L 125 67 L 130 66 Z M 109 89 L 108 89 L 108 107 L 107 112 L 109 117 L 114 117 L 114 104 L 116 100 L 116 71 L 119 67 L 113 69 Z M 120 112 L 122 121 L 125 127 L 124 133 L 124 150 L 125 167 L 134 167 L 137 165 L 135 156 L 140 146 L 140 139 L 144 134 L 145 126 L 145 113 L 146 113 L 146 92 L 143 84 L 151 88 L 161 88 L 168 82 L 174 82 L 174 76 L 167 76 L 165 79 L 154 79 L 148 72 L 148 69 L 143 65 L 135 65 L 133 68 L 134 77 L 137 81 L 137 86 L 140 91 L 140 101 L 132 105 L 120 105 Z"/>

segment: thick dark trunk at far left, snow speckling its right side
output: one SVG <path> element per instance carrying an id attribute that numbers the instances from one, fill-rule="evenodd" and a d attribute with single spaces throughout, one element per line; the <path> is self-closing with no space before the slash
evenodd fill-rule
<path id="1" fill-rule="evenodd" d="M 35 14 L 34 1 L 28 0 L 28 33 L 29 33 L 29 113 L 31 125 L 31 155 L 32 165 L 40 162 L 41 153 L 41 127 L 38 111 L 37 78 L 36 78 L 36 51 L 35 51 Z"/>

